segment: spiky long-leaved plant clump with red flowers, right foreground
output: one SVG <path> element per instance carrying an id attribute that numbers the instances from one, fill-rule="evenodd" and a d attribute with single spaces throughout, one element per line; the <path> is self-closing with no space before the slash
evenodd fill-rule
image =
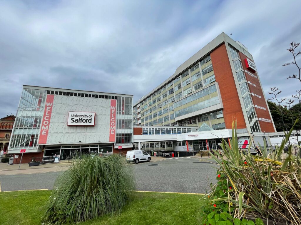
<path id="1" fill-rule="evenodd" d="M 270 152 L 266 144 L 259 146 L 260 155 L 251 155 L 250 146 L 242 154 L 236 128 L 230 145 L 222 140 L 224 154 L 214 151 L 219 159 L 211 154 L 219 165 L 218 182 L 206 196 L 204 224 L 254 224 L 246 220 L 250 217 L 274 224 L 301 224 L 301 159 L 299 154 L 292 154 L 294 148 L 300 151 L 300 146 L 288 143 L 292 131 Z M 224 223 L 227 220 L 230 222 Z M 263 223 L 257 220 L 256 224 Z"/>

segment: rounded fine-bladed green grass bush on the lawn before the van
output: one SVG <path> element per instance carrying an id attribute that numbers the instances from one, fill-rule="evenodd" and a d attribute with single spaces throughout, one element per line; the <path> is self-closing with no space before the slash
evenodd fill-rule
<path id="1" fill-rule="evenodd" d="M 76 223 L 120 213 L 134 190 L 132 167 L 119 155 L 75 157 L 54 183 L 42 224 Z"/>

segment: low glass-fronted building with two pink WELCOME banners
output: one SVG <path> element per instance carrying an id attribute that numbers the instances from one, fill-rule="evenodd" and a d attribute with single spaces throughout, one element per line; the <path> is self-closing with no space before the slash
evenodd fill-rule
<path id="1" fill-rule="evenodd" d="M 32 157 L 113 153 L 133 147 L 132 95 L 23 85 L 9 153 Z"/>

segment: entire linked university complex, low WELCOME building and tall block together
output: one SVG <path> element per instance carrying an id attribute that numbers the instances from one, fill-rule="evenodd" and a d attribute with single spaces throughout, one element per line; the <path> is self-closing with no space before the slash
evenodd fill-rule
<path id="1" fill-rule="evenodd" d="M 8 152 L 14 163 L 21 149 L 24 163 L 119 153 L 118 146 L 185 155 L 219 149 L 222 138 L 232 137 L 234 120 L 242 149 L 270 142 L 276 131 L 253 56 L 225 33 L 134 105 L 132 97 L 24 85 Z"/>

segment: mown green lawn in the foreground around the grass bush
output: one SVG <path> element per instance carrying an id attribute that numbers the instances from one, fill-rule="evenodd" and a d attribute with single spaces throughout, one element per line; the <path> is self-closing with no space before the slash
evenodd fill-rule
<path id="1" fill-rule="evenodd" d="M 51 195 L 49 190 L 0 193 L 0 224 L 41 224 L 43 205 Z M 137 192 L 135 200 L 119 215 L 103 216 L 82 222 L 97 224 L 200 224 L 202 196 L 194 194 Z"/>

